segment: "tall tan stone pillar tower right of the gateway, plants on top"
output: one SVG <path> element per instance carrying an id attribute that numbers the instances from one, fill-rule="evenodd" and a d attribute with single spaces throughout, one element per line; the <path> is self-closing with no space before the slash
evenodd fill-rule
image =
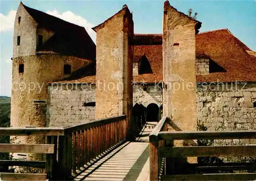
<path id="1" fill-rule="evenodd" d="M 164 3 L 163 116 L 178 130 L 196 130 L 196 34 L 201 22 Z"/>

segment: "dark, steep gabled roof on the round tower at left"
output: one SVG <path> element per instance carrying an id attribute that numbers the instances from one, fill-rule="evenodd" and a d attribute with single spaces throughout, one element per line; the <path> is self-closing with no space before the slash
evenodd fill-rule
<path id="1" fill-rule="evenodd" d="M 38 47 L 37 53 L 71 55 L 95 60 L 96 46 L 86 29 L 42 11 L 22 4 L 38 23 L 38 27 L 55 32 L 49 40 Z"/>

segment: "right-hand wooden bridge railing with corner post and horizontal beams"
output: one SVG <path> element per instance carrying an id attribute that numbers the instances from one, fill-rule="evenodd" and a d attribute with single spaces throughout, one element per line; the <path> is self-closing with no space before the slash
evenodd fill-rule
<path id="1" fill-rule="evenodd" d="M 165 168 L 175 168 L 181 157 L 256 156 L 255 145 L 239 146 L 174 146 L 174 140 L 230 140 L 256 139 L 256 131 L 164 131 L 166 120 L 161 120 L 150 135 L 150 180 L 255 180 L 256 163 L 205 163 L 182 167 L 182 173 L 172 172 L 160 177 L 159 160 L 165 158 Z M 165 143 L 159 146 L 160 142 Z M 169 142 L 169 144 L 167 144 Z M 169 162 L 167 162 L 167 160 Z M 164 170 L 164 169 L 163 169 Z M 175 170 L 175 169 L 174 169 Z M 243 170 L 243 172 L 238 172 Z M 165 170 L 166 171 L 166 170 Z M 252 172 L 252 173 L 248 173 Z"/>

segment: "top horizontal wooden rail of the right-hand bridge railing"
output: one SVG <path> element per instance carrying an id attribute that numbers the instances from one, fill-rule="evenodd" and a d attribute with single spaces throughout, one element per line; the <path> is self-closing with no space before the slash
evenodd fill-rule
<path id="1" fill-rule="evenodd" d="M 159 140 L 256 139 L 256 131 L 162 131 Z"/>

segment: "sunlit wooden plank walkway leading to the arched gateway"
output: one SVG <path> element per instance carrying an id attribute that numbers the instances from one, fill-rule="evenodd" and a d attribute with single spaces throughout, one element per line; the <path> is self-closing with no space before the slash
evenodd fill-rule
<path id="1" fill-rule="evenodd" d="M 125 142 L 74 180 L 149 180 L 150 164 L 147 133 L 154 127 L 145 126 L 136 142 Z"/>

